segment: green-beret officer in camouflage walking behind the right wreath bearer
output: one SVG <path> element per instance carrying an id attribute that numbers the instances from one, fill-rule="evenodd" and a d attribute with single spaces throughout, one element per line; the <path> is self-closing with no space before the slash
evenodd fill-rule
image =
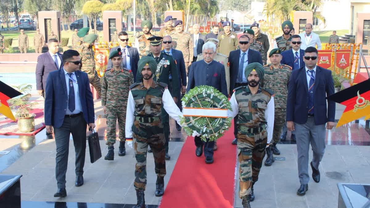
<path id="1" fill-rule="evenodd" d="M 290 66 L 280 64 L 282 55 L 279 48 L 272 49 L 269 57 L 271 64 L 263 66 L 265 69 L 265 77 L 261 81 L 261 87 L 269 88 L 275 93 L 275 122 L 273 128 L 273 140 L 270 142 L 269 147 L 266 148 L 266 166 L 271 166 L 275 161 L 273 154 L 280 155 L 280 151 L 277 149 L 276 144 L 280 141 L 280 134 L 285 124 L 288 82 L 290 74 L 292 74 L 292 68 Z"/>

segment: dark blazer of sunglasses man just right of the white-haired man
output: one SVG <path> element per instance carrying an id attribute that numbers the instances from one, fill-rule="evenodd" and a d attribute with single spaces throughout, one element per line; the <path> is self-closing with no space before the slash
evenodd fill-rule
<path id="1" fill-rule="evenodd" d="M 230 94 L 233 93 L 235 89 L 235 83 L 238 79 L 239 70 L 239 60 L 240 60 L 240 49 L 231 51 L 229 54 L 229 64 L 230 64 Z M 258 62 L 262 64 L 262 57 L 258 51 L 249 48 L 248 51 L 248 64 Z"/>

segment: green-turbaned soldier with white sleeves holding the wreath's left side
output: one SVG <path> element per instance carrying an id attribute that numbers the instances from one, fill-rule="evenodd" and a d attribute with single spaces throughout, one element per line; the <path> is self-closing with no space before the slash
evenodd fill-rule
<path id="1" fill-rule="evenodd" d="M 153 57 L 142 57 L 138 63 L 138 74 L 142 79 L 129 87 L 125 132 L 127 145 L 134 147 L 136 158 L 134 187 L 137 204 L 133 208 L 145 208 L 144 191 L 147 185 L 148 147 L 153 150 L 155 173 L 157 174 L 155 196 L 160 197 L 164 194 L 166 161 L 161 114 L 165 110 L 178 123 L 182 116 L 167 89 L 167 84 L 153 80 L 158 73 L 157 68 L 157 61 Z"/>

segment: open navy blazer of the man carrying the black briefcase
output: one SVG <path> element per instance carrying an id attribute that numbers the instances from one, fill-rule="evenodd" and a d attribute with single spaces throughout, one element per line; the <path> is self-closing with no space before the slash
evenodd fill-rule
<path id="1" fill-rule="evenodd" d="M 87 73 L 83 71 L 75 71 L 75 75 L 85 121 L 88 124 L 94 123 L 94 101 L 92 100 L 89 78 Z M 63 68 L 50 72 L 45 91 L 45 125 L 52 125 L 55 128 L 61 127 L 67 110 L 67 101 L 68 94 Z"/>

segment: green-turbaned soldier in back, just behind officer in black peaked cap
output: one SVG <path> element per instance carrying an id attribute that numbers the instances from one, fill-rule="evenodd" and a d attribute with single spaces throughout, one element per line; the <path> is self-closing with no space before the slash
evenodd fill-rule
<path id="1" fill-rule="evenodd" d="M 149 20 L 144 20 L 141 22 L 141 30 L 144 33 L 143 35 L 137 38 L 135 46 L 139 48 L 140 57 L 147 56 L 152 51 L 150 50 L 150 41 L 148 38 L 153 37 L 150 33 L 150 30 L 153 28 L 153 23 Z"/>

